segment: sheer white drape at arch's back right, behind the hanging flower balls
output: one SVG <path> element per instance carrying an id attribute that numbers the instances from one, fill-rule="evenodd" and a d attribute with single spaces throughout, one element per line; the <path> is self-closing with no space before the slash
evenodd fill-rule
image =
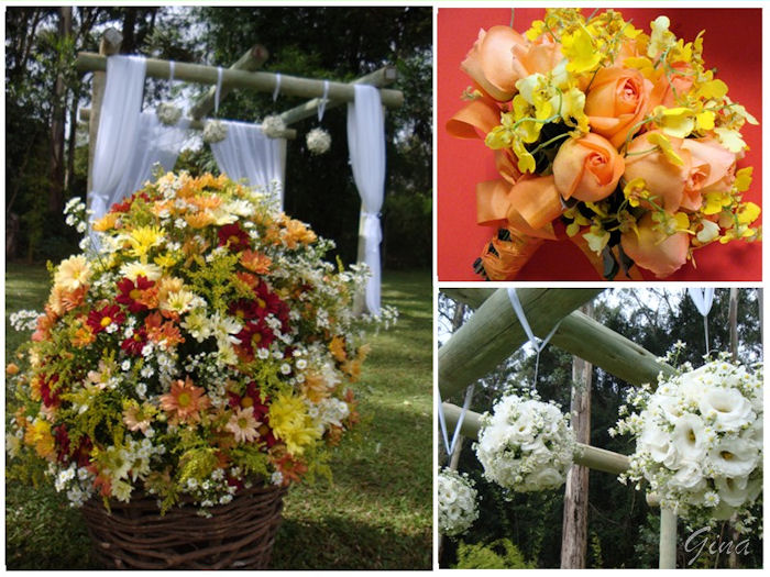
<path id="1" fill-rule="evenodd" d="M 260 126 L 243 122 L 221 121 L 228 127 L 223 141 L 212 143 L 211 152 L 219 169 L 233 180 L 245 179 L 250 186 L 272 190 L 279 182 L 278 201 L 284 206 L 286 140 L 268 138 Z"/>

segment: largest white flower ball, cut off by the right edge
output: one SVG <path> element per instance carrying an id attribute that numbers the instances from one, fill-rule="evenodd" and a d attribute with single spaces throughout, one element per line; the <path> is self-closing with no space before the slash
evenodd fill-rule
<path id="1" fill-rule="evenodd" d="M 743 530 L 762 489 L 762 373 L 728 358 L 697 369 L 685 364 L 673 376 L 661 374 L 654 391 L 649 385 L 631 391 L 636 411 L 609 433 L 636 436 L 622 482 L 641 489 L 647 481 L 661 507 L 693 526 L 737 513 Z"/>

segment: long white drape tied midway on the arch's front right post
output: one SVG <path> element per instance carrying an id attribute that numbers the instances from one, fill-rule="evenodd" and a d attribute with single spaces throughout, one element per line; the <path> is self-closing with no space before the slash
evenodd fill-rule
<path id="1" fill-rule="evenodd" d="M 385 121 L 380 91 L 355 85 L 355 101 L 348 104 L 348 148 L 353 179 L 361 197 L 364 262 L 372 276 L 366 284 L 366 309 L 380 313 L 380 210 L 385 196 Z"/>

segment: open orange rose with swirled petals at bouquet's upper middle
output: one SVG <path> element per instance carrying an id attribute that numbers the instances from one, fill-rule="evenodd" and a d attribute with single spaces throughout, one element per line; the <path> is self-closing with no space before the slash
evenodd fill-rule
<path id="1" fill-rule="evenodd" d="M 593 132 L 619 148 L 649 109 L 652 82 L 638 70 L 612 66 L 600 68 L 585 96 L 585 113 Z"/>

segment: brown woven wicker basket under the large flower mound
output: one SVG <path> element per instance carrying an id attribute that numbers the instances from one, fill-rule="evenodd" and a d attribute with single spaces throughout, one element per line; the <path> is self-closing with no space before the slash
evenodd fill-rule
<path id="1" fill-rule="evenodd" d="M 128 503 L 91 499 L 82 508 L 98 557 L 117 569 L 265 569 L 286 489 L 243 489 L 228 504 L 174 507 L 161 515 L 157 499 Z"/>

